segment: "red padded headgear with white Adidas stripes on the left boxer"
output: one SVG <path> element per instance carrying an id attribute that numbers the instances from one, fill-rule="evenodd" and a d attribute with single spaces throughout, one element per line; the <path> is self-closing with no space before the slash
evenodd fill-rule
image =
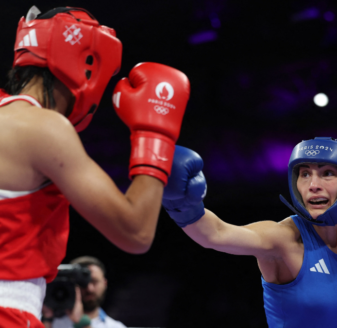
<path id="1" fill-rule="evenodd" d="M 48 67 L 69 88 L 76 100 L 68 119 L 80 132 L 120 69 L 122 44 L 86 10 L 60 7 L 31 21 L 21 17 L 14 51 L 13 66 Z"/>

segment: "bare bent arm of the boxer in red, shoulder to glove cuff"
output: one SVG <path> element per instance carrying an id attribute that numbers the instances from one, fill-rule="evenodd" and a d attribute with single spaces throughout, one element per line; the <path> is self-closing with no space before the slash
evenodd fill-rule
<path id="1" fill-rule="evenodd" d="M 71 205 L 109 241 L 130 253 L 146 252 L 153 241 L 163 183 L 135 176 L 125 195 L 85 152 L 74 127 L 62 115 L 39 111 L 22 129 L 32 167 L 50 178 Z"/>

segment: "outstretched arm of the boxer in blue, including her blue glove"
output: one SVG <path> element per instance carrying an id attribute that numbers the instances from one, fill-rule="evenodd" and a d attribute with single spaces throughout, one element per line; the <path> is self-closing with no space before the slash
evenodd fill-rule
<path id="1" fill-rule="evenodd" d="M 258 258 L 268 254 L 282 256 L 284 245 L 298 239 L 290 218 L 280 223 L 261 221 L 236 226 L 204 209 L 202 199 L 207 188 L 202 166 L 200 155 L 176 146 L 172 172 L 163 196 L 163 206 L 169 216 L 194 241 L 221 252 Z"/>

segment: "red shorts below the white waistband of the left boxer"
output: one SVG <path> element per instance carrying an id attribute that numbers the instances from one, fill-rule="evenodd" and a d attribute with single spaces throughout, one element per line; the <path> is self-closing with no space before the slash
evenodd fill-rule
<path id="1" fill-rule="evenodd" d="M 33 314 L 0 307 L 0 328 L 45 328 Z"/>

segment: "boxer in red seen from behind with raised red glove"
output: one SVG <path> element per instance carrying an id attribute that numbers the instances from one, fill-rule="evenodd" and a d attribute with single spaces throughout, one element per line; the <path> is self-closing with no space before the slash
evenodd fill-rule
<path id="1" fill-rule="evenodd" d="M 19 21 L 0 93 L 1 328 L 43 327 L 46 282 L 66 254 L 69 204 L 122 250 L 151 246 L 189 82 L 176 69 L 142 63 L 116 86 L 132 142 L 133 181 L 123 194 L 77 134 L 118 72 L 121 50 L 115 31 L 81 8 L 32 7 Z"/>

